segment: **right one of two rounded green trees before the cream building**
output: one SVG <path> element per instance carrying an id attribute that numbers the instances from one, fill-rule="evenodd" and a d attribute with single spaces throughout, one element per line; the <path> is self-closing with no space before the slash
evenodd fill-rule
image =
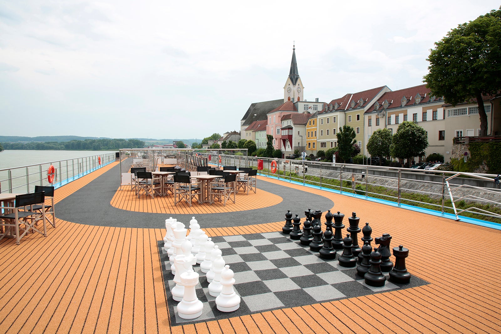
<path id="1" fill-rule="evenodd" d="M 426 130 L 415 122 L 405 121 L 398 126 L 397 132 L 391 138 L 391 156 L 410 161 L 414 156 L 424 154 L 428 147 L 428 134 Z"/>

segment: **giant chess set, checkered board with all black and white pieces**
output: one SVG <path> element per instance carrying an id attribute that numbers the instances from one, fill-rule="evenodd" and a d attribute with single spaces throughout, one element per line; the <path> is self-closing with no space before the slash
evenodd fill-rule
<path id="1" fill-rule="evenodd" d="M 209 238 L 193 217 L 190 232 L 165 220 L 158 242 L 171 325 L 210 321 L 427 284 L 405 266 L 409 250 L 389 234 L 372 238 L 369 223 L 330 211 L 287 212 L 282 232 Z M 334 221 L 334 222 L 333 222 Z M 363 246 L 358 244 L 358 233 Z M 372 248 L 374 241 L 379 247 Z"/>

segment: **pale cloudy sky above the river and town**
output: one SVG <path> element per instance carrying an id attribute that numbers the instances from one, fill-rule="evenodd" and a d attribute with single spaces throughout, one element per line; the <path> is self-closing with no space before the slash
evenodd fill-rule
<path id="1" fill-rule="evenodd" d="M 498 1 L 3 0 L 0 135 L 203 138 L 284 97 L 422 84 L 433 43 Z M 16 121 L 21 120 L 19 126 Z"/>

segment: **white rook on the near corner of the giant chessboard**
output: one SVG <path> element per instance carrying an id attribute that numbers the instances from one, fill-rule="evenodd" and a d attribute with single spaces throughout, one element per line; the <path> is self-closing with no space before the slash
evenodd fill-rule
<path id="1" fill-rule="evenodd" d="M 199 275 L 194 271 L 181 274 L 181 282 L 184 285 L 184 296 L 177 304 L 177 314 L 183 319 L 194 319 L 202 315 L 203 303 L 198 300 L 195 285 Z"/>

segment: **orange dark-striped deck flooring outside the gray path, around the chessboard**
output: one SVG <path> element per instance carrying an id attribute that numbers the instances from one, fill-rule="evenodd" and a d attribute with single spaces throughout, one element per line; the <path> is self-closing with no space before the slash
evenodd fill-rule
<path id="1" fill-rule="evenodd" d="M 57 189 L 56 203 L 113 165 Z M 30 234 L 18 246 L 13 239 L 0 241 L 0 332 L 501 332 L 498 230 L 323 190 L 304 190 L 332 199 L 333 211 L 346 216 L 355 211 L 361 224 L 371 224 L 373 237 L 390 233 L 392 247 L 402 244 L 410 250 L 407 269 L 430 284 L 170 326 L 157 248 L 165 229 L 99 227 L 56 219 L 57 227 L 48 228 L 46 238 Z M 203 220 L 198 221 L 203 227 Z M 204 230 L 211 236 L 235 235 L 281 231 L 283 225 L 281 221 Z"/>

